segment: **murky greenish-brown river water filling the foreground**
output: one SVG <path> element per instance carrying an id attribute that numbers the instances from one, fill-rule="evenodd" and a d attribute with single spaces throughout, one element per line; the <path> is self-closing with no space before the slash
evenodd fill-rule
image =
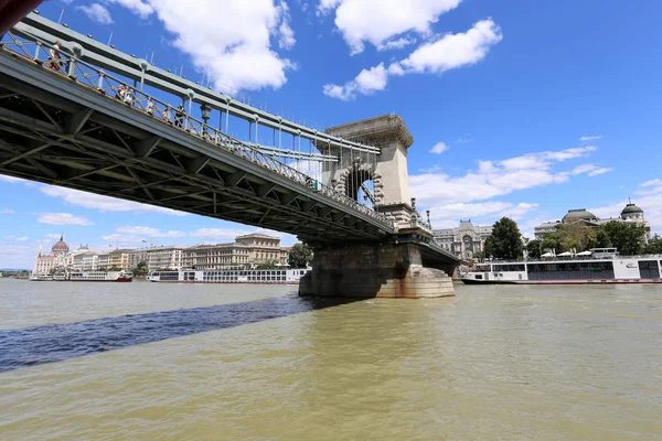
<path id="1" fill-rule="evenodd" d="M 662 287 L 0 279 L 0 440 L 660 440 Z"/>

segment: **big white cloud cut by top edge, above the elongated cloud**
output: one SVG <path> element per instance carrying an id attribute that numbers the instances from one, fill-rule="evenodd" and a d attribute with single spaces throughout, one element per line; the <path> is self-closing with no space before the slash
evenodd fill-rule
<path id="1" fill-rule="evenodd" d="M 461 0 L 320 0 L 322 14 L 335 9 L 335 25 L 352 54 L 362 52 L 365 42 L 381 46 L 405 32 L 427 35 L 439 15 L 455 9 Z"/>

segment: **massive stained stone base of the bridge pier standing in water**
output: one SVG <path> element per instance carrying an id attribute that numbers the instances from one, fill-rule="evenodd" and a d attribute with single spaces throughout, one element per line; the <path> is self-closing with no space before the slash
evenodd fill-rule
<path id="1" fill-rule="evenodd" d="M 446 272 L 423 266 L 415 244 L 324 245 L 314 248 L 299 295 L 421 299 L 455 289 Z"/>

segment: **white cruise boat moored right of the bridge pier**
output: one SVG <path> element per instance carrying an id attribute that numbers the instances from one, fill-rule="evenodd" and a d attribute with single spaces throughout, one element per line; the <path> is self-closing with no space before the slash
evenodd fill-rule
<path id="1" fill-rule="evenodd" d="M 619 256 L 595 248 L 583 256 L 479 263 L 461 276 L 467 284 L 662 283 L 662 256 Z"/>

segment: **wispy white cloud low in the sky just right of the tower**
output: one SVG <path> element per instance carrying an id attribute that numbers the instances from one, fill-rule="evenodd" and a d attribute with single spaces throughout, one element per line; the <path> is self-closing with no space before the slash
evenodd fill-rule
<path id="1" fill-rule="evenodd" d="M 463 176 L 424 173 L 409 178 L 412 194 L 421 206 L 441 207 L 448 204 L 485 201 L 517 190 L 568 181 L 569 171 L 554 171 L 553 165 L 581 158 L 594 147 L 545 151 L 501 161 L 479 161 L 478 169 Z"/>

